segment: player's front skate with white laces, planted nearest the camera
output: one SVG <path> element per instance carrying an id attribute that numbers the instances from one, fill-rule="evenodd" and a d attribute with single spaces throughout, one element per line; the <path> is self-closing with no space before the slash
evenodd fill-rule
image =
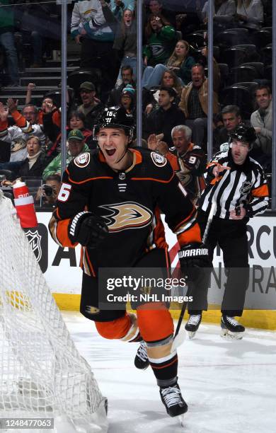
<path id="1" fill-rule="evenodd" d="M 168 415 L 170 415 L 170 417 L 179 417 L 179 420 L 183 425 L 183 416 L 181 415 L 187 412 L 188 405 L 181 396 L 178 383 L 166 388 L 160 388 L 160 396 L 163 405 L 166 407 Z"/>

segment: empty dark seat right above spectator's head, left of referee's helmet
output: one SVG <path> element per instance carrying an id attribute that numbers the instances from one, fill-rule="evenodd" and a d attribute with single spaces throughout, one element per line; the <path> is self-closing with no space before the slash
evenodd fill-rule
<path id="1" fill-rule="evenodd" d="M 241 109 L 243 119 L 248 120 L 255 109 L 253 107 L 253 98 L 248 88 L 243 86 L 229 86 L 224 88 L 220 93 L 220 103 L 225 105 L 238 105 Z"/>

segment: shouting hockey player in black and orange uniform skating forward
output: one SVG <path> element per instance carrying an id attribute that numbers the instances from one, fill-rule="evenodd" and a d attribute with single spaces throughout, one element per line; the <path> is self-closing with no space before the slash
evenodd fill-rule
<path id="1" fill-rule="evenodd" d="M 178 386 L 178 357 L 171 352 L 173 320 L 162 302 L 138 302 L 137 316 L 125 309 L 103 310 L 98 301 L 101 267 L 168 268 L 167 244 L 160 210 L 178 236 L 180 247 L 191 253 L 180 259 L 185 273 L 205 266 L 206 248 L 200 245 L 195 207 L 166 158 L 155 152 L 130 149 L 133 118 L 124 108 L 106 108 L 95 133 L 99 149 L 72 161 L 63 176 L 57 209 L 50 221 L 54 241 L 61 246 L 83 246 L 81 313 L 95 321 L 105 338 L 142 341 L 144 357 L 135 364 L 150 364 L 168 415 L 188 409 Z M 192 252 L 197 253 L 193 256 Z"/>

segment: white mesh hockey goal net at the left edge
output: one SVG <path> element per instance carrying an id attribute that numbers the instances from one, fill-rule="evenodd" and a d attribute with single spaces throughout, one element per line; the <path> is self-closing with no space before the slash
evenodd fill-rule
<path id="1" fill-rule="evenodd" d="M 0 248 L 0 417 L 53 417 L 57 433 L 106 432 L 106 399 L 1 190 Z"/>

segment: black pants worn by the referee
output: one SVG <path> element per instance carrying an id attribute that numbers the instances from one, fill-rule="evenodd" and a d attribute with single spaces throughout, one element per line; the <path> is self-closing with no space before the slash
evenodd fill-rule
<path id="1" fill-rule="evenodd" d="M 203 235 L 207 224 L 207 214 L 199 211 L 197 221 L 200 224 Z M 213 260 L 214 248 L 216 248 L 217 244 L 222 249 L 227 281 L 221 311 L 222 314 L 231 317 L 242 316 L 249 281 L 246 221 L 214 217 L 207 237 L 211 261 Z M 199 313 L 200 310 L 207 309 L 208 285 L 201 284 L 200 290 L 195 289 L 193 291 L 195 303 L 190 305 L 190 314 Z"/>

